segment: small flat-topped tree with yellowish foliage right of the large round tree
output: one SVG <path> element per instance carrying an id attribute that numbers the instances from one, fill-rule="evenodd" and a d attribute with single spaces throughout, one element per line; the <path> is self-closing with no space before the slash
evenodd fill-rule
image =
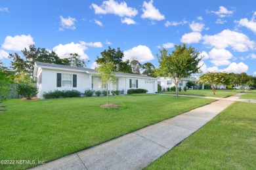
<path id="1" fill-rule="evenodd" d="M 210 84 L 213 89 L 213 94 L 215 95 L 215 91 L 218 85 L 228 84 L 228 75 L 226 73 L 214 73 L 208 72 L 202 76 L 200 76 L 200 82 L 204 84 Z"/>

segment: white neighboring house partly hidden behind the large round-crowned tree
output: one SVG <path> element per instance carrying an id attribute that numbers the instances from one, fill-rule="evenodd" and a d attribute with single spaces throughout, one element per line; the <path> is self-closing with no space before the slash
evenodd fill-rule
<path id="1" fill-rule="evenodd" d="M 195 78 L 181 78 L 181 80 L 179 81 L 178 87 L 181 86 L 181 88 L 183 89 L 184 86 L 186 86 L 187 82 L 196 82 L 197 79 Z M 175 86 L 173 80 L 171 78 L 164 78 L 164 77 L 158 77 L 158 84 L 161 86 L 161 90 L 163 90 L 163 88 L 171 88 L 173 86 Z"/>

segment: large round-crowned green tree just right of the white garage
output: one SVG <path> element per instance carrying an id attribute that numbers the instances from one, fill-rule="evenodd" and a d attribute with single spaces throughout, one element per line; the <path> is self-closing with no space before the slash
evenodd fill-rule
<path id="1" fill-rule="evenodd" d="M 176 95 L 178 97 L 178 84 L 181 78 L 186 78 L 192 74 L 200 73 L 198 58 L 200 52 L 196 51 L 193 47 L 188 47 L 186 44 L 175 45 L 175 50 L 169 52 L 162 48 L 158 56 L 159 69 L 158 76 L 172 78 L 176 86 Z"/>

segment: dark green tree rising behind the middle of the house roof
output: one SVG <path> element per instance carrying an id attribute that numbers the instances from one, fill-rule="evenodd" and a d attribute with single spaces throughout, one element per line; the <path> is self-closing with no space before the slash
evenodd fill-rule
<path id="1" fill-rule="evenodd" d="M 109 46 L 108 50 L 104 50 L 100 54 L 101 57 L 97 56 L 97 58 L 95 59 L 98 65 L 112 62 L 114 71 L 132 73 L 129 60 L 123 61 L 123 52 L 120 50 L 120 48 L 117 48 L 116 50 L 115 48 L 110 48 Z"/>

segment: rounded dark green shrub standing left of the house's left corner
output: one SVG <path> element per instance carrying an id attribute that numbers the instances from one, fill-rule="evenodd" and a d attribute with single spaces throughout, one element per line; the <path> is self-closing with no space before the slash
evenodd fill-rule
<path id="1" fill-rule="evenodd" d="M 16 92 L 19 95 L 26 97 L 26 99 L 30 100 L 33 96 L 38 93 L 37 87 L 33 86 L 33 84 L 18 84 L 16 88 Z"/>

